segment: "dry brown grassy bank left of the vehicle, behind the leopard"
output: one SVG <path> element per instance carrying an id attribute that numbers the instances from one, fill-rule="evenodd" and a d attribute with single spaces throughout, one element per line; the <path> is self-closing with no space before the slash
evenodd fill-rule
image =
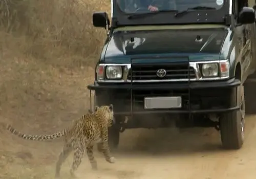
<path id="1" fill-rule="evenodd" d="M 0 121 L 51 133 L 87 111 L 86 86 L 105 38 L 92 13 L 109 9 L 109 1 L 0 1 Z M 53 176 L 59 142 L 1 136 L 0 178 Z"/>

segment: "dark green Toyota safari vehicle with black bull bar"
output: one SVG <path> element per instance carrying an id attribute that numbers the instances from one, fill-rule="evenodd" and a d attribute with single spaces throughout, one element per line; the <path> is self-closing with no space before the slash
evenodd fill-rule
<path id="1" fill-rule="evenodd" d="M 225 148 L 244 142 L 243 83 L 256 67 L 255 13 L 240 0 L 112 0 L 93 24 L 107 37 L 94 105 L 113 104 L 109 144 L 129 128 L 215 127 Z M 92 105 L 91 105 L 92 109 Z"/>

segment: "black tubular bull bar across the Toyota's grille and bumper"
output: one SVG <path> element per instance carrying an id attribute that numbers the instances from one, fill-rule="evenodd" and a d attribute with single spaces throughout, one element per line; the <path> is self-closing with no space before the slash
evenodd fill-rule
<path id="1" fill-rule="evenodd" d="M 143 58 L 139 58 L 139 59 L 143 59 Z M 98 83 L 94 83 L 91 85 L 88 85 L 88 89 L 90 90 L 90 108 L 91 111 L 93 111 L 93 107 L 92 107 L 92 92 L 91 91 L 100 91 L 100 90 L 104 90 L 104 89 L 127 89 L 130 91 L 130 110 L 129 111 L 125 111 L 125 112 L 116 112 L 116 115 L 125 115 L 125 116 L 131 116 L 133 117 L 133 115 L 139 115 L 139 114 L 188 114 L 188 117 L 190 118 L 191 114 L 195 114 L 195 113 L 225 113 L 228 111 L 233 111 L 233 110 L 238 110 L 239 106 L 230 106 L 230 107 L 226 107 L 226 108 L 218 108 L 218 109 L 191 109 L 191 105 L 190 105 L 190 98 L 191 98 L 191 90 L 194 89 L 203 89 L 203 88 L 210 88 L 210 90 L 214 90 L 215 88 L 231 88 L 231 87 L 237 87 L 241 84 L 241 81 L 238 79 L 229 79 L 227 81 L 209 81 L 209 82 L 205 82 L 205 81 L 191 81 L 190 79 L 190 65 L 189 65 L 189 58 L 186 57 L 187 61 L 185 62 L 187 65 L 187 71 L 188 71 L 188 80 L 182 83 L 177 83 L 177 82 L 166 82 L 166 83 L 156 83 L 156 84 L 152 84 L 152 83 L 137 83 L 134 82 L 133 80 L 133 68 L 136 67 L 136 65 L 141 65 L 142 63 L 134 63 L 134 61 L 139 60 L 136 58 L 131 59 L 131 69 L 130 69 L 130 82 L 126 82 L 126 83 L 117 83 L 117 84 L 98 84 Z M 183 62 L 184 63 L 184 62 Z M 146 63 L 143 65 L 153 65 L 154 63 Z M 159 63 L 156 63 L 159 64 Z M 164 66 L 164 65 L 163 65 Z M 134 111 L 134 99 L 133 99 L 133 94 L 134 91 L 136 90 L 166 90 L 166 89 L 187 89 L 187 98 L 188 98 L 188 104 L 187 104 L 187 109 L 147 109 L 147 110 L 140 110 L 140 111 Z M 114 105 L 115 108 L 115 105 Z"/>

